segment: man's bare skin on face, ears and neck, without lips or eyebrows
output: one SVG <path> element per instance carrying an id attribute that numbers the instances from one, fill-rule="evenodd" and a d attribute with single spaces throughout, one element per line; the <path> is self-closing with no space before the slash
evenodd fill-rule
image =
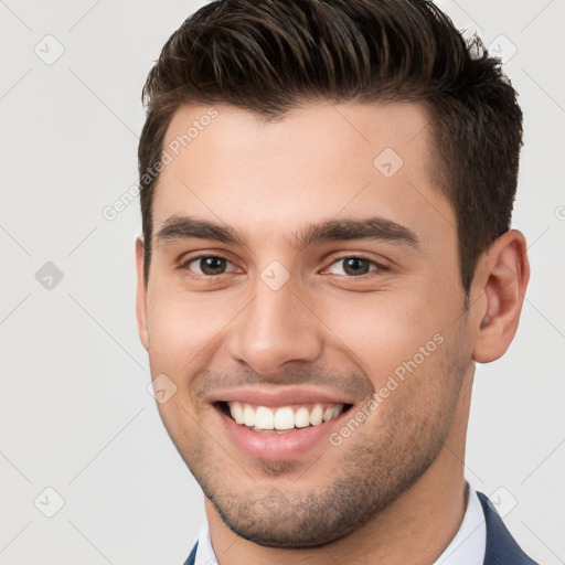
<path id="1" fill-rule="evenodd" d="M 207 109 L 179 109 L 166 146 Z M 152 377 L 177 386 L 158 408 L 206 494 L 216 556 L 222 565 L 430 564 L 465 513 L 475 362 L 498 359 L 514 337 L 529 279 L 524 237 L 512 230 L 481 256 L 466 308 L 456 218 L 435 183 L 423 106 L 311 103 L 271 122 L 216 109 L 161 172 L 147 286 L 136 244 L 140 339 Z M 404 162 L 391 178 L 373 166 L 384 148 Z M 185 215 L 230 226 L 245 244 L 158 239 Z M 311 223 L 370 216 L 409 228 L 418 247 L 295 239 Z M 188 263 L 199 255 L 225 257 L 226 271 L 203 277 L 199 260 Z M 347 257 L 376 263 L 348 276 Z M 274 260 L 289 277 L 277 290 L 262 279 Z M 339 446 L 249 457 L 211 404 L 230 386 L 310 387 L 345 397 L 355 414 L 437 334 L 441 344 Z"/>

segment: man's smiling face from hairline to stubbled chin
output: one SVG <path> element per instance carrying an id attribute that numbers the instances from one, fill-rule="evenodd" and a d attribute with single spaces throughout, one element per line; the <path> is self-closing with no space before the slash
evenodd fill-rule
<path id="1" fill-rule="evenodd" d="M 320 545 L 465 427 L 456 218 L 419 105 L 311 104 L 274 122 L 215 109 L 184 107 L 167 134 L 166 150 L 200 126 L 154 195 L 141 339 L 152 377 L 177 386 L 164 426 L 225 523 Z"/>

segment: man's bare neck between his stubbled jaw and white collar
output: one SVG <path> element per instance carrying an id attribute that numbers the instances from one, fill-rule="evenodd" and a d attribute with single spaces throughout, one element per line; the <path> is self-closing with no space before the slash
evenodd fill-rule
<path id="1" fill-rule="evenodd" d="M 471 383 L 463 384 L 450 431 L 427 471 L 371 522 L 313 548 L 264 547 L 234 534 L 205 500 L 210 537 L 221 565 L 254 563 L 433 564 L 459 530 L 466 511 L 465 440 Z"/>

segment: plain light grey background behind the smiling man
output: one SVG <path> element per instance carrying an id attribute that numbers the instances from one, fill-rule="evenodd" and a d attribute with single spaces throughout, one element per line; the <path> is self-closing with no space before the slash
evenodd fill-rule
<path id="1" fill-rule="evenodd" d="M 147 392 L 138 200 L 103 216 L 136 183 L 151 62 L 201 4 L 0 1 L 1 564 L 180 564 L 202 523 Z M 440 6 L 508 58 L 525 113 L 532 279 L 509 353 L 478 367 L 467 476 L 526 552 L 565 563 L 564 1 Z"/>

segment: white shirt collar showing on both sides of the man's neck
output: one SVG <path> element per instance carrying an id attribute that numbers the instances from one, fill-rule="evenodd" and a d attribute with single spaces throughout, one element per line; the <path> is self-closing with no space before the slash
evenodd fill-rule
<path id="1" fill-rule="evenodd" d="M 469 500 L 463 521 L 444 553 L 431 565 L 482 565 L 487 547 L 484 513 L 476 490 L 469 484 Z M 194 565 L 217 565 L 210 541 L 207 522 L 199 535 Z"/>

